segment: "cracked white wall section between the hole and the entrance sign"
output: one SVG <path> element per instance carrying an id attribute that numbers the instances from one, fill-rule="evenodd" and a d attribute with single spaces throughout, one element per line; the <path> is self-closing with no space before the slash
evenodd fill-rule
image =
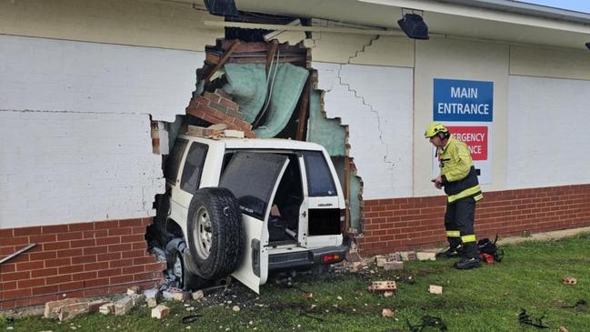
<path id="1" fill-rule="evenodd" d="M 348 125 L 363 198 L 412 196 L 410 68 L 314 62 L 328 117 Z"/>

